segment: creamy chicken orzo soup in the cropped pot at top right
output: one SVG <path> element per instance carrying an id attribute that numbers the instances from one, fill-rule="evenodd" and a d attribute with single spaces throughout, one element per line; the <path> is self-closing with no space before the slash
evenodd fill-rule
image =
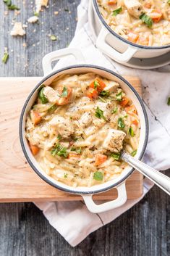
<path id="1" fill-rule="evenodd" d="M 98 0 L 101 15 L 114 32 L 135 44 L 170 44 L 169 0 Z"/>

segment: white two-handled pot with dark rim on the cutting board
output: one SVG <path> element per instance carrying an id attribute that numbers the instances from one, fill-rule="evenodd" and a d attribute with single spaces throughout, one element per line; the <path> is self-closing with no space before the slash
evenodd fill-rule
<path id="1" fill-rule="evenodd" d="M 88 209 L 91 212 L 103 212 L 106 210 L 111 210 L 116 207 L 119 207 L 127 201 L 127 191 L 125 188 L 125 180 L 132 174 L 134 169 L 131 167 L 127 167 L 122 172 L 122 174 L 119 177 L 115 178 L 113 181 L 107 181 L 106 183 L 102 183 L 101 185 L 96 185 L 91 187 L 73 188 L 71 186 L 65 185 L 64 183 L 56 181 L 54 178 L 47 176 L 46 173 L 38 165 L 38 162 L 36 162 L 35 158 L 33 157 L 33 154 L 31 154 L 30 148 L 27 144 L 27 139 L 25 138 L 25 120 L 27 117 L 27 113 L 29 112 L 30 108 L 33 106 L 33 103 L 35 102 L 35 99 L 38 96 L 38 89 L 42 84 L 45 84 L 46 86 L 50 85 L 52 80 L 54 80 L 59 75 L 64 75 L 64 74 L 74 74 L 74 73 L 81 74 L 81 73 L 94 72 L 110 80 L 116 80 L 122 86 L 127 96 L 129 96 L 129 98 L 132 99 L 132 101 L 134 102 L 137 108 L 137 112 L 140 115 L 140 123 L 141 123 L 140 144 L 137 149 L 137 154 L 135 156 L 137 157 L 137 159 L 141 159 L 143 157 L 146 144 L 148 141 L 148 117 L 146 115 L 143 102 L 140 99 L 140 96 L 137 94 L 137 91 L 135 91 L 135 89 L 127 82 L 127 80 L 124 80 L 124 78 L 122 78 L 120 75 L 117 75 L 111 70 L 106 70 L 103 67 L 85 65 L 85 64 L 72 65 L 69 67 L 61 68 L 60 70 L 55 70 L 54 68 L 55 71 L 52 70 L 51 62 L 70 54 L 75 56 L 75 59 L 77 59 L 77 62 L 79 63 L 85 62 L 81 52 L 77 51 L 76 49 L 62 49 L 59 51 L 51 52 L 50 54 L 47 54 L 45 57 L 43 57 L 43 71 L 45 73 L 45 76 L 43 80 L 41 80 L 41 82 L 38 83 L 37 86 L 35 86 L 33 91 L 30 92 L 30 95 L 27 97 L 27 100 L 24 104 L 24 107 L 22 109 L 22 113 L 20 116 L 20 143 L 22 146 L 22 150 L 25 154 L 25 157 L 27 158 L 27 162 L 30 164 L 33 170 L 35 170 L 35 173 L 37 173 L 38 176 L 43 178 L 44 181 L 56 187 L 57 189 L 67 191 L 69 193 L 81 194 L 83 199 L 85 200 L 85 204 L 87 205 Z M 92 199 L 93 194 L 101 193 L 103 191 L 107 191 L 114 187 L 118 191 L 118 197 L 115 200 L 111 202 L 105 202 L 101 205 L 95 205 L 95 202 L 93 202 L 93 199 Z"/>

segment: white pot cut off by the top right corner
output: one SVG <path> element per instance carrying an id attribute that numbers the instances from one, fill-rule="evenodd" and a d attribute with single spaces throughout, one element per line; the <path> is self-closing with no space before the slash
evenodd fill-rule
<path id="1" fill-rule="evenodd" d="M 166 46 L 142 46 L 134 44 L 112 30 L 103 19 L 98 9 L 97 0 L 92 1 L 95 28 L 98 33 L 96 46 L 104 54 L 119 63 L 127 63 L 129 59 L 142 58 L 148 59 L 158 57 L 170 51 L 170 45 Z"/>

